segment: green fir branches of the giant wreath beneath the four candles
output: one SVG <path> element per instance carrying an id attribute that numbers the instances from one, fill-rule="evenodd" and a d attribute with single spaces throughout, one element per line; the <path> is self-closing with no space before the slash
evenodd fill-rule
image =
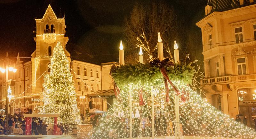
<path id="1" fill-rule="evenodd" d="M 173 66 L 164 66 L 170 80 L 182 80 L 183 82 L 190 84 L 192 83 L 193 76 L 196 73 L 194 69 L 195 66 L 192 63 L 186 64 L 182 62 L 180 64 L 174 64 Z M 149 63 L 142 64 L 126 64 L 121 67 L 116 68 L 112 72 L 112 77 L 114 78 L 118 86 L 122 86 L 127 83 L 144 83 L 156 84 L 157 79 L 162 79 L 163 75 L 160 71 L 159 65 L 150 65 Z"/>

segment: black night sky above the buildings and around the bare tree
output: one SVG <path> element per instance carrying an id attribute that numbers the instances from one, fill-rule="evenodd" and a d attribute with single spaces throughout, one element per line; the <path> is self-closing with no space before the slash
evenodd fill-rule
<path id="1" fill-rule="evenodd" d="M 35 18 L 42 18 L 49 4 L 56 16 L 65 12 L 66 49 L 73 59 L 102 63 L 116 61 L 119 40 L 123 39 L 123 23 L 134 4 L 147 4 L 148 0 L 1 0 L 0 1 L 0 59 L 9 56 L 31 57 L 36 48 L 33 40 Z M 185 18 L 184 26 L 196 28 L 195 23 L 204 16 L 207 0 L 166 0 Z M 61 8 L 61 10 L 60 10 Z M 202 44 L 202 42 L 198 42 Z M 125 45 L 125 44 L 124 44 Z M 199 46 L 201 47 L 201 46 Z M 24 61 L 30 58 L 23 59 Z"/>

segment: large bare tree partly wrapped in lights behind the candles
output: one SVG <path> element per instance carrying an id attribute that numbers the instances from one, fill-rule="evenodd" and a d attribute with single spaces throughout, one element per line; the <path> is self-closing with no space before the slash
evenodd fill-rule
<path id="1" fill-rule="evenodd" d="M 164 2 L 154 1 L 146 6 L 136 4 L 130 17 L 125 20 L 124 38 L 128 46 L 126 62 L 137 60 L 140 47 L 143 49 L 144 61 L 157 57 L 158 32 L 161 33 L 166 50 L 165 57 L 172 58 L 174 40 L 184 40 L 185 37 L 180 23 L 173 8 Z"/>

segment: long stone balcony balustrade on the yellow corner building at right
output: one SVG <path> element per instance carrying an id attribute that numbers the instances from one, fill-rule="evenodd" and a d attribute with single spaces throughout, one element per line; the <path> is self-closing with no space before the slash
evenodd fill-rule
<path id="1" fill-rule="evenodd" d="M 226 82 L 239 82 L 239 81 L 249 81 L 255 80 L 256 74 L 244 74 L 244 75 L 225 75 L 219 77 L 207 77 L 200 80 L 201 85 L 207 84 L 218 84 Z"/>

